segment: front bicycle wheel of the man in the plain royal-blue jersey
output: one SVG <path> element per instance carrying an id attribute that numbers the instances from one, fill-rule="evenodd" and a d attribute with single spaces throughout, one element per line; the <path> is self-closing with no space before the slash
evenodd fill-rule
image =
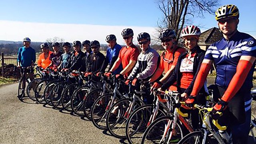
<path id="1" fill-rule="evenodd" d="M 101 95 L 102 95 L 102 89 L 96 88 L 91 92 L 89 92 L 85 97 L 83 111 L 84 111 L 84 116 L 88 118 L 88 120 L 91 120 L 92 105 L 94 104 L 95 100 Z"/>

